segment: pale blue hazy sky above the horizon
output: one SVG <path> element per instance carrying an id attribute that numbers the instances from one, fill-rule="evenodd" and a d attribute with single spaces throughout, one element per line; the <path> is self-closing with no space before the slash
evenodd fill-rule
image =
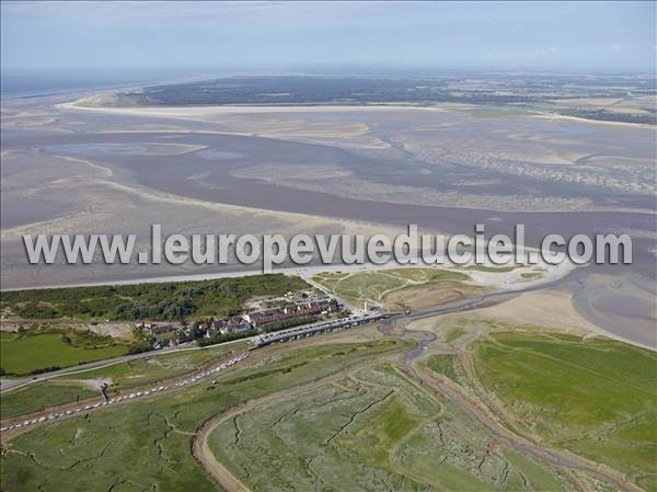
<path id="1" fill-rule="evenodd" d="M 655 71 L 655 2 L 2 1 L 1 68 Z"/>

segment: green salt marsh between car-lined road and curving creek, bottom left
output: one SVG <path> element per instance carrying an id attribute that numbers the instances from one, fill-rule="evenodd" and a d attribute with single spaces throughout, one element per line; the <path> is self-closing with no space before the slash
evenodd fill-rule
<path id="1" fill-rule="evenodd" d="M 192 435 L 206 420 L 249 399 L 408 348 L 392 340 L 300 348 L 227 371 L 215 385 L 49 423 L 9 443 L 0 457 L 0 489 L 217 491 L 189 453 Z"/>

